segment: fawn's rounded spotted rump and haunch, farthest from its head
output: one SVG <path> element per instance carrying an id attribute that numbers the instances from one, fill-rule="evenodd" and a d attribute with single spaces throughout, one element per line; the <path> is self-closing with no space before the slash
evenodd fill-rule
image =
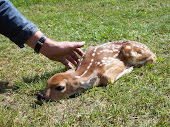
<path id="1" fill-rule="evenodd" d="M 155 54 L 142 43 L 125 42 L 122 45 L 121 53 L 128 66 L 140 67 L 156 62 Z"/>

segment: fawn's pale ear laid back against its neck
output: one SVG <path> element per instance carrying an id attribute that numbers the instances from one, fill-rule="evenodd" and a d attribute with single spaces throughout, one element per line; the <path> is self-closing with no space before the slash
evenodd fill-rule
<path id="1" fill-rule="evenodd" d="M 97 80 L 97 77 L 93 77 L 93 78 L 90 78 L 86 82 L 80 81 L 80 88 L 83 88 L 83 89 L 92 88 L 93 84 L 96 82 L 96 80 Z"/>

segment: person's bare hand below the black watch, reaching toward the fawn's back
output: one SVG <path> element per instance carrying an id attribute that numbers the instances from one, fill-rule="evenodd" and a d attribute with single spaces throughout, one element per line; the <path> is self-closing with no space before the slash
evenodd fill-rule
<path id="1" fill-rule="evenodd" d="M 41 47 L 40 53 L 51 60 L 61 62 L 71 69 L 73 67 L 69 62 L 74 66 L 78 65 L 80 62 L 78 55 L 83 55 L 83 51 L 80 47 L 84 46 L 84 44 L 85 42 L 56 42 L 48 38 Z"/>

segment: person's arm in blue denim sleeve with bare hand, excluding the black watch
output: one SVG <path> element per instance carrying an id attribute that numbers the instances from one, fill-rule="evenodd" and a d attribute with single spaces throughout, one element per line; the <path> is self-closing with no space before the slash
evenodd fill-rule
<path id="1" fill-rule="evenodd" d="M 26 43 L 35 48 L 37 41 L 44 35 L 31 21 L 27 20 L 9 0 L 0 0 L 0 33 L 8 37 L 20 48 Z M 47 39 L 40 49 L 40 53 L 51 60 L 57 60 L 68 68 L 72 68 L 70 61 L 75 66 L 78 65 L 78 53 L 82 56 L 83 52 L 79 49 L 84 45 L 76 42 L 56 42 Z"/>

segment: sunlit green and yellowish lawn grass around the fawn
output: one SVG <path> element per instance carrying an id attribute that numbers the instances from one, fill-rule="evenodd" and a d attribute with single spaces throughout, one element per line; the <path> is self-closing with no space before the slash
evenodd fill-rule
<path id="1" fill-rule="evenodd" d="M 1 35 L 0 79 L 5 82 L 0 88 L 0 126 L 170 125 L 168 0 L 11 1 L 54 40 L 85 41 L 83 50 L 110 40 L 139 41 L 158 60 L 107 87 L 40 106 L 36 94 L 65 67 Z"/>

